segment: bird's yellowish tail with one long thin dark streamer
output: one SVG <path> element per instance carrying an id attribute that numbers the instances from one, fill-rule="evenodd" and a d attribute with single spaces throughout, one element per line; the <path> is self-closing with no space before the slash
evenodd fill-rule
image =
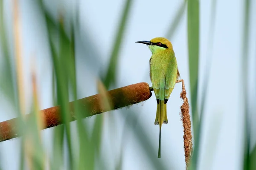
<path id="1" fill-rule="evenodd" d="M 155 125 L 159 125 L 159 147 L 158 147 L 158 158 L 161 157 L 161 127 L 162 124 L 167 124 L 167 112 L 166 112 L 166 103 L 164 100 L 157 102 L 157 116 L 155 120 Z"/>

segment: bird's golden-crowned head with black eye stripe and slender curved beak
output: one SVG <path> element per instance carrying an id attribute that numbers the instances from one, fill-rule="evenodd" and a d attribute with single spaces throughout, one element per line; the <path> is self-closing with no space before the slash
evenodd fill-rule
<path id="1" fill-rule="evenodd" d="M 137 41 L 137 43 L 143 43 L 143 44 L 148 45 L 152 54 L 159 53 L 159 52 L 166 51 L 166 50 L 173 51 L 172 43 L 163 37 L 153 38 L 150 41 Z"/>

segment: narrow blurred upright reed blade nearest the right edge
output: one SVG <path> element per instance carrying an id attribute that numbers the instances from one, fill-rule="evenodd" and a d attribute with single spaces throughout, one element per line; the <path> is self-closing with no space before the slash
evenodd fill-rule
<path id="1" fill-rule="evenodd" d="M 250 117 L 248 104 L 248 47 L 249 47 L 249 32 L 250 32 L 250 0 L 244 0 L 244 32 L 242 34 L 242 53 L 241 53 L 241 71 L 240 81 L 242 82 L 241 90 L 244 106 L 244 170 L 249 170 L 250 165 Z"/>

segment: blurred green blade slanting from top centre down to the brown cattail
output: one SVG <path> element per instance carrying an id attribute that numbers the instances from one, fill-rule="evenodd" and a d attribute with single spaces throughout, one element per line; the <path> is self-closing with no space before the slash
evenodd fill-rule
<path id="1" fill-rule="evenodd" d="M 118 64 L 119 51 L 120 51 L 120 47 L 122 44 L 122 39 L 124 37 L 124 31 L 125 31 L 125 27 L 126 27 L 126 24 L 128 21 L 129 12 L 131 11 L 132 1 L 133 0 L 126 0 L 123 14 L 122 14 L 122 17 L 121 17 L 121 20 L 119 23 L 119 28 L 118 28 L 118 31 L 116 34 L 116 38 L 115 38 L 113 47 L 112 47 L 113 50 L 111 53 L 110 63 L 108 65 L 108 71 L 107 71 L 107 74 L 105 75 L 105 78 L 103 81 L 107 90 L 109 89 L 109 87 L 112 83 L 115 83 L 116 66 Z"/>

